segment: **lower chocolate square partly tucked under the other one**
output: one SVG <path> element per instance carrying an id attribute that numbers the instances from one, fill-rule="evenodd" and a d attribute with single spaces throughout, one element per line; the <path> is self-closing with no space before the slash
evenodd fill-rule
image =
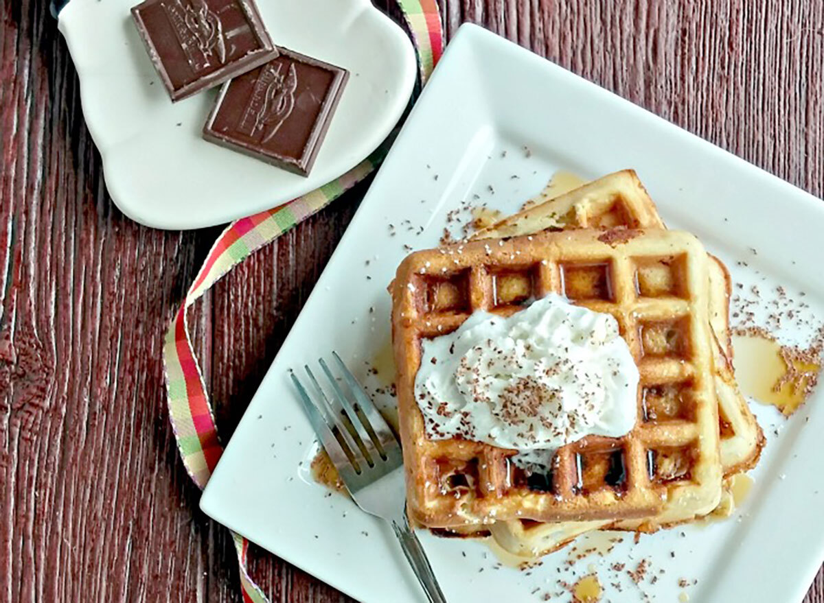
<path id="1" fill-rule="evenodd" d="M 224 84 L 204 138 L 308 175 L 348 79 L 345 69 L 280 49 Z"/>

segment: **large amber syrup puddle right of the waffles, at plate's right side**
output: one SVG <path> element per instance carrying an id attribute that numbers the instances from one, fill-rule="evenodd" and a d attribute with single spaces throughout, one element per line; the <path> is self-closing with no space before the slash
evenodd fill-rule
<path id="1" fill-rule="evenodd" d="M 816 354 L 783 346 L 766 334 L 735 334 L 733 348 L 742 393 L 787 417 L 807 400 L 822 368 Z"/>

